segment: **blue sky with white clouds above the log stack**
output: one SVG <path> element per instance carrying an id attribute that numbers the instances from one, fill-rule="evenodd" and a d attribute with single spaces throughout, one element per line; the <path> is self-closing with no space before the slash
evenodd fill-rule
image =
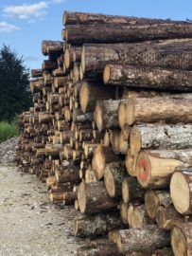
<path id="1" fill-rule="evenodd" d="M 15 49 L 26 67 L 41 67 L 42 40 L 61 40 L 64 10 L 192 20 L 192 0 L 0 0 L 0 47 Z"/>

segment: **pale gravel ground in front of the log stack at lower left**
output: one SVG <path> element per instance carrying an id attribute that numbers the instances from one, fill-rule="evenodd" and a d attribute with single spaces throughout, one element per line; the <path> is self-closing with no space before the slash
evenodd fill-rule
<path id="1" fill-rule="evenodd" d="M 15 165 L 0 164 L 0 255 L 76 255 L 75 210 L 49 202 L 45 185 Z"/>

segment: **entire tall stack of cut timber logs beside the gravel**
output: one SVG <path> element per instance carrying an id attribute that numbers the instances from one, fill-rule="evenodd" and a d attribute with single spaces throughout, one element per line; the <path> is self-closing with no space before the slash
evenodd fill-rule
<path id="1" fill-rule="evenodd" d="M 31 71 L 21 170 L 80 211 L 75 235 L 96 240 L 77 255 L 191 255 L 192 24 L 65 11 L 63 26 Z"/>

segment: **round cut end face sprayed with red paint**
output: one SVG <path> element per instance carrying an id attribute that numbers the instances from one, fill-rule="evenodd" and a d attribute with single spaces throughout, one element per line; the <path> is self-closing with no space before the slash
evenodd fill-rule
<path id="1" fill-rule="evenodd" d="M 138 155 L 135 169 L 138 182 L 143 188 L 147 188 L 150 180 L 150 160 L 145 152 Z"/>

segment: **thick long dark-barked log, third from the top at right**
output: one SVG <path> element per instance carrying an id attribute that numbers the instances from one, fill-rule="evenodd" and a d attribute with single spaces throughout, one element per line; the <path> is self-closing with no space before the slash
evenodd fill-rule
<path id="1" fill-rule="evenodd" d="M 191 39 L 137 44 L 84 44 L 81 52 L 81 67 L 86 77 L 92 77 L 94 74 L 100 76 L 106 64 L 191 70 L 191 51 Z"/>

